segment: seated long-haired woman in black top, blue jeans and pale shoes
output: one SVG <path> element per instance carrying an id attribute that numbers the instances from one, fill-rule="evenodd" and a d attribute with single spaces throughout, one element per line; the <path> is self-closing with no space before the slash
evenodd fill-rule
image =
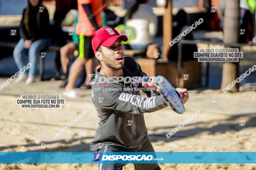
<path id="1" fill-rule="evenodd" d="M 26 84 L 35 81 L 36 60 L 40 58 L 42 49 L 49 45 L 49 14 L 45 7 L 42 6 L 42 0 L 29 0 L 28 5 L 23 10 L 21 26 L 19 33 L 21 39 L 13 50 L 14 61 L 21 69 L 27 65 L 24 56 L 29 55 L 29 63 L 32 67 L 27 73 L 21 74 L 15 82 L 26 79 Z"/>

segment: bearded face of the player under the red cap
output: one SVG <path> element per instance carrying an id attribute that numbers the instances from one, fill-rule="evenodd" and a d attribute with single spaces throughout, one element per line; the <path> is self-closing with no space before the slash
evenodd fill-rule
<path id="1" fill-rule="evenodd" d="M 120 39 L 117 39 L 110 47 L 101 46 L 102 50 L 102 62 L 113 70 L 120 70 L 125 65 L 123 43 Z"/>

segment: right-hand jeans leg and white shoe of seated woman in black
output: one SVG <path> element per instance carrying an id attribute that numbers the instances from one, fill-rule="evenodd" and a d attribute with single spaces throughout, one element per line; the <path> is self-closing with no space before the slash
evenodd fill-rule
<path id="1" fill-rule="evenodd" d="M 29 69 L 29 75 L 26 80 L 26 84 L 30 84 L 35 81 L 35 69 L 36 69 L 36 61 L 41 56 L 41 50 L 49 45 L 49 39 L 38 39 L 34 41 L 29 48 L 29 63 L 32 64 Z"/>

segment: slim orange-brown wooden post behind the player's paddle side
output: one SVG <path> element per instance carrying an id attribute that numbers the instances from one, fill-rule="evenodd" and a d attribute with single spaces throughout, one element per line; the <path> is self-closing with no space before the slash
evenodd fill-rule
<path id="1" fill-rule="evenodd" d="M 166 0 L 165 13 L 163 15 L 163 59 L 168 61 L 169 42 L 172 41 L 172 0 Z"/>

